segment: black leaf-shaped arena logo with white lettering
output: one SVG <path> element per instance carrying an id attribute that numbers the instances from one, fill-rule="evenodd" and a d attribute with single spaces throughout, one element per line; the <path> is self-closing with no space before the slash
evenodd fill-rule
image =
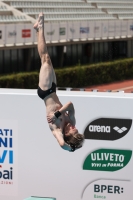
<path id="1" fill-rule="evenodd" d="M 129 132 L 131 125 L 131 119 L 99 118 L 87 125 L 84 136 L 85 139 L 118 140 Z"/>

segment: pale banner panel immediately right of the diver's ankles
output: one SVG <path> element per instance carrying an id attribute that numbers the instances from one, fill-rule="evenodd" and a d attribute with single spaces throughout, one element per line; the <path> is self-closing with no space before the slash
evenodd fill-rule
<path id="1" fill-rule="evenodd" d="M 52 35 L 54 34 L 54 31 L 51 29 L 51 23 L 45 23 L 44 24 L 44 34 L 46 41 L 50 42 L 52 40 Z"/>

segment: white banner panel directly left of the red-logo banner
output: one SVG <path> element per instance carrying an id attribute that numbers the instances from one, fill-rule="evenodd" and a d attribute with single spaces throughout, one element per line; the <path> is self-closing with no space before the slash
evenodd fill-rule
<path id="1" fill-rule="evenodd" d="M 16 24 L 16 44 L 24 43 L 25 39 L 22 37 L 22 31 L 24 29 L 24 24 Z"/>

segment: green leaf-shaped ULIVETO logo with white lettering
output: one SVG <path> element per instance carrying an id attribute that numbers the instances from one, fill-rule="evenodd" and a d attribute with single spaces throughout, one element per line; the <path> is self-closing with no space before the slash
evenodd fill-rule
<path id="1" fill-rule="evenodd" d="M 118 171 L 129 163 L 131 157 L 131 150 L 98 149 L 86 157 L 83 170 Z"/>

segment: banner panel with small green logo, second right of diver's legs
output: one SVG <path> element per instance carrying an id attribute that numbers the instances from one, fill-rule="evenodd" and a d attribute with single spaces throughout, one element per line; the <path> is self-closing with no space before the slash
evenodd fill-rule
<path id="1" fill-rule="evenodd" d="M 67 40 L 67 22 L 59 23 L 59 40 Z"/>

